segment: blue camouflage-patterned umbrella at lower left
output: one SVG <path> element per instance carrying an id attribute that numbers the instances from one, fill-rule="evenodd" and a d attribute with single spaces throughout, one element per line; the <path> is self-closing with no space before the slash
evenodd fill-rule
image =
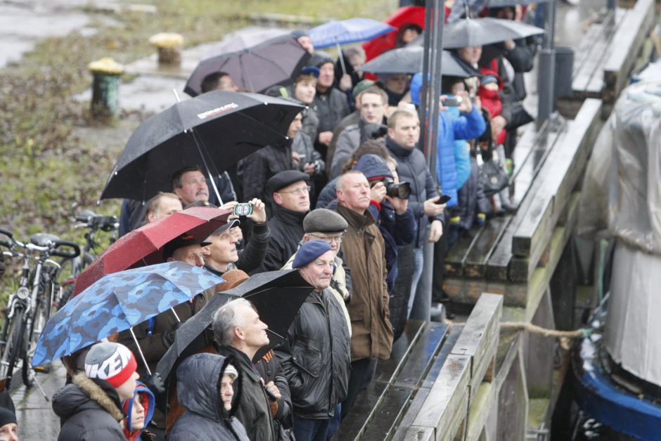
<path id="1" fill-rule="evenodd" d="M 184 262 L 108 274 L 51 317 L 39 336 L 32 365 L 41 366 L 125 331 L 223 281 Z"/>

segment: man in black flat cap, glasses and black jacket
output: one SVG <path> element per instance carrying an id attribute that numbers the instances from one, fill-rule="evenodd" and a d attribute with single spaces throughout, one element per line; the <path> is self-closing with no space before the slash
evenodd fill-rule
<path id="1" fill-rule="evenodd" d="M 310 210 L 309 179 L 307 173 L 287 170 L 267 182 L 273 217 L 269 220 L 271 239 L 261 271 L 281 269 L 296 252 L 303 237 L 303 219 Z"/>

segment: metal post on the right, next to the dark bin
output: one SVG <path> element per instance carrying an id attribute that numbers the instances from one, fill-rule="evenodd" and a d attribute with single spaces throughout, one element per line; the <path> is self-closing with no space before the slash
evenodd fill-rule
<path id="1" fill-rule="evenodd" d="M 556 49 L 553 44 L 556 29 L 556 2 L 549 1 L 539 5 L 544 9 L 545 30 L 544 45 L 539 52 L 539 103 L 537 106 L 537 121 L 544 122 L 555 109 L 556 96 L 554 86 L 556 82 Z"/>

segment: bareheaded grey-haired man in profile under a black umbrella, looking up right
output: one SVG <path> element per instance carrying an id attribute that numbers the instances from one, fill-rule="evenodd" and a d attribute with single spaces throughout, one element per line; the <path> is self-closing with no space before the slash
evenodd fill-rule
<path id="1" fill-rule="evenodd" d="M 236 406 L 236 418 L 243 424 L 251 440 L 274 441 L 276 434 L 267 390 L 274 397 L 281 394 L 273 381 L 262 383 L 252 358 L 260 347 L 269 344 L 268 326 L 244 298 L 227 302 L 214 314 L 214 339 L 220 345 L 218 353 L 233 357 L 233 364 L 241 372 L 241 392 Z"/>

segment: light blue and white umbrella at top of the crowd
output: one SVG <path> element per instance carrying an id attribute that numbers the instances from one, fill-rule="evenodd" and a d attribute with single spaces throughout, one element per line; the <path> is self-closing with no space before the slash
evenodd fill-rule
<path id="1" fill-rule="evenodd" d="M 356 43 L 371 40 L 395 28 L 371 18 L 347 18 L 330 21 L 308 31 L 315 49 L 323 49 L 337 44 Z"/>

